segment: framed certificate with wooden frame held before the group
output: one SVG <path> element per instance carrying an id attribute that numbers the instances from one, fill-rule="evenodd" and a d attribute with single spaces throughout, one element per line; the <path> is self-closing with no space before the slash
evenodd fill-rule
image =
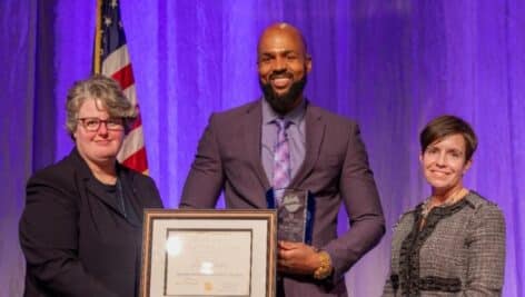
<path id="1" fill-rule="evenodd" d="M 275 296 L 276 240 L 270 209 L 147 209 L 140 296 Z"/>

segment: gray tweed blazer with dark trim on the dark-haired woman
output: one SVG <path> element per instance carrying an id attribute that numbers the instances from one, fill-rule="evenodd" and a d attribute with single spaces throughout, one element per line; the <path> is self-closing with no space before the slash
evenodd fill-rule
<path id="1" fill-rule="evenodd" d="M 432 209 L 419 230 L 422 209 L 403 215 L 394 229 L 383 296 L 501 296 L 505 221 L 498 207 L 470 191 Z"/>

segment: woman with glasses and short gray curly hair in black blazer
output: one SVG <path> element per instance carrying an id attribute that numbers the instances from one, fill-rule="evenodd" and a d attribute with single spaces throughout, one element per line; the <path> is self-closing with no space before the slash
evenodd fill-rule
<path id="1" fill-rule="evenodd" d="M 69 90 L 66 125 L 76 146 L 27 184 L 24 296 L 138 295 L 142 210 L 162 202 L 151 178 L 117 161 L 135 118 L 112 79 L 93 76 Z"/>

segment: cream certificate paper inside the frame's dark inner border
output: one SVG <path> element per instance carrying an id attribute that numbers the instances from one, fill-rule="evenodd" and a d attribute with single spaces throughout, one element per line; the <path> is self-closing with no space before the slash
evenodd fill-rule
<path id="1" fill-rule="evenodd" d="M 167 296 L 250 296 L 250 230 L 168 229 Z"/>

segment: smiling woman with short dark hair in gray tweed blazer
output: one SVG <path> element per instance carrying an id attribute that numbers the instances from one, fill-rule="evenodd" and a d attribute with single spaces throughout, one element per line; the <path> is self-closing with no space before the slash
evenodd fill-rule
<path id="1" fill-rule="evenodd" d="M 383 296 L 501 296 L 505 221 L 498 207 L 463 186 L 477 138 L 454 116 L 423 129 L 419 156 L 432 195 L 394 229 Z"/>

